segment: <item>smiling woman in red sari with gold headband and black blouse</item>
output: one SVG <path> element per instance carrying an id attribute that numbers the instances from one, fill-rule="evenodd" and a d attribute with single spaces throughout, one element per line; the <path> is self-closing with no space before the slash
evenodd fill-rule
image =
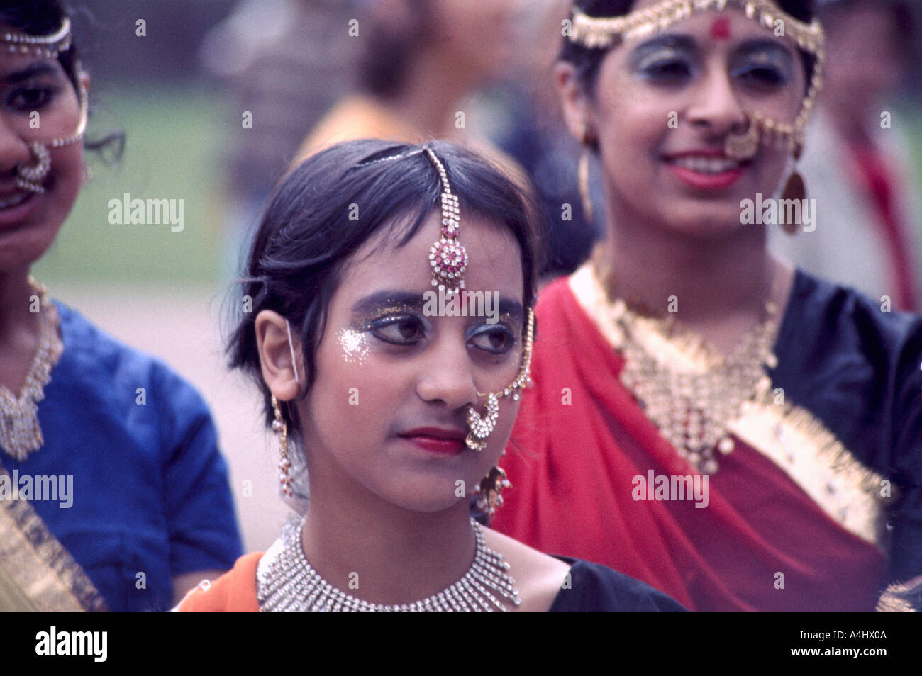
<path id="1" fill-rule="evenodd" d="M 538 301 L 495 527 L 695 610 L 873 610 L 922 573 L 922 320 L 775 260 L 740 210 L 805 199 L 810 2 L 577 0 L 568 21 L 555 76 L 608 236 Z M 708 479 L 707 507 L 641 499 L 655 475 Z"/>

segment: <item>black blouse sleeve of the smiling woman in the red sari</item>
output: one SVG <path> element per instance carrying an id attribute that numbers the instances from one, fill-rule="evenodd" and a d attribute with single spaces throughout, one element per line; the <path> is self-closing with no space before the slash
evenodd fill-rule
<path id="1" fill-rule="evenodd" d="M 775 355 L 786 401 L 899 487 L 888 581 L 922 574 L 922 317 L 798 269 Z"/>

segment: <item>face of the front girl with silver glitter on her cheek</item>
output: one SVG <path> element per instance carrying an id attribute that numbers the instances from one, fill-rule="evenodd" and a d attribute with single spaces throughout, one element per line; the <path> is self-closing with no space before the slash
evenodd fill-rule
<path id="1" fill-rule="evenodd" d="M 435 290 L 429 250 L 440 227 L 436 212 L 403 247 L 374 239 L 341 274 L 316 379 L 298 402 L 312 499 L 375 495 L 437 511 L 466 500 L 500 457 L 518 403 L 500 400 L 483 451 L 465 444 L 467 407 L 485 414 L 478 392 L 501 391 L 521 367 L 519 246 L 507 227 L 462 215 L 467 291 L 495 292 L 499 309 L 489 317 L 433 316 L 424 294 Z"/>

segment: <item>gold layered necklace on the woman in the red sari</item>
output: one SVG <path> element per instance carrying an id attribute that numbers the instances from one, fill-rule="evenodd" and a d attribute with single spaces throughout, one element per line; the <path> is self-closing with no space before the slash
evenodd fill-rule
<path id="1" fill-rule="evenodd" d="M 611 276 L 599 274 L 597 262 L 591 270 L 607 301 L 609 339 L 624 356 L 621 383 L 683 458 L 703 474 L 715 473 L 715 451 L 727 454 L 736 446 L 727 425 L 745 402 L 771 388 L 765 368 L 777 366 L 778 282 L 769 285 L 761 321 L 725 356 L 674 317 L 648 316 L 610 296 Z"/>

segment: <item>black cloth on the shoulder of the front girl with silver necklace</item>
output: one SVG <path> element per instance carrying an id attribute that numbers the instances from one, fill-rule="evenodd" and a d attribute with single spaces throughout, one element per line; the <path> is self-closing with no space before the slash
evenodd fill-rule
<path id="1" fill-rule="evenodd" d="M 570 564 L 570 588 L 561 589 L 548 612 L 688 612 L 672 597 L 607 565 L 554 556 Z"/>

